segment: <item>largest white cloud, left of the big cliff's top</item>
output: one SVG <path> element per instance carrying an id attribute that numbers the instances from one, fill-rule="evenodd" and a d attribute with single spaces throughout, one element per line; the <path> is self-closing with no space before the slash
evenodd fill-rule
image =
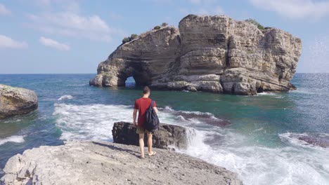
<path id="1" fill-rule="evenodd" d="M 30 22 L 25 23 L 46 34 L 72 36 L 93 41 L 111 41 L 112 34 L 124 36 L 120 29 L 111 28 L 98 15 L 82 16 L 77 13 L 43 13 L 27 15 Z"/>

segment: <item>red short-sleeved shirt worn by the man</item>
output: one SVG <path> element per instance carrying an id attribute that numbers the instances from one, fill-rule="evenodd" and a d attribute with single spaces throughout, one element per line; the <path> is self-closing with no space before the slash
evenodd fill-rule
<path id="1" fill-rule="evenodd" d="M 145 121 L 146 121 L 146 110 L 148 107 L 150 107 L 150 103 L 152 100 L 148 97 L 141 97 L 135 101 L 134 109 L 138 109 L 138 120 L 137 125 L 140 127 L 143 127 Z M 155 101 L 153 102 L 153 107 L 157 107 L 157 104 L 155 104 Z"/>

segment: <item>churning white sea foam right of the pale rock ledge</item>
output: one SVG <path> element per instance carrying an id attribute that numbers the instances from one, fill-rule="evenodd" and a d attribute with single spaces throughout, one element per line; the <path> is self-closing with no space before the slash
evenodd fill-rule
<path id="1" fill-rule="evenodd" d="M 328 184 L 329 158 L 323 150 L 304 151 L 285 146 L 271 149 L 243 144 L 242 135 L 226 130 L 218 142 L 240 142 L 212 146 L 205 144 L 209 131 L 188 132 L 188 149 L 177 151 L 201 158 L 238 173 L 244 184 Z M 229 133 L 231 132 L 231 133 Z"/>

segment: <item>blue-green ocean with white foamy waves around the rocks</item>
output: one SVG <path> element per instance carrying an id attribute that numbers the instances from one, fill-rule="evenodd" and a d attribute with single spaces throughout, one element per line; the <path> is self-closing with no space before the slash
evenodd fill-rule
<path id="1" fill-rule="evenodd" d="M 89 86 L 95 74 L 1 74 L 0 83 L 34 90 L 37 111 L 0 121 L 0 176 L 16 153 L 72 140 L 112 142 L 112 125 L 132 121 L 141 88 Z M 297 90 L 257 96 L 153 90 L 160 121 L 188 128 L 176 149 L 236 172 L 244 184 L 329 184 L 329 74 L 295 74 Z M 229 123 L 218 126 L 216 123 Z M 161 155 L 161 153 L 159 153 Z"/>

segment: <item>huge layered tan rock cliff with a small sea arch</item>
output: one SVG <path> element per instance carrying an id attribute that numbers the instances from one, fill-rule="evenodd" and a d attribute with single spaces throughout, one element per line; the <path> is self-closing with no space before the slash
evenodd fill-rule
<path id="1" fill-rule="evenodd" d="M 90 85 L 255 95 L 288 91 L 302 42 L 288 32 L 259 30 L 226 16 L 188 15 L 179 29 L 162 27 L 119 46 L 98 65 Z"/>

